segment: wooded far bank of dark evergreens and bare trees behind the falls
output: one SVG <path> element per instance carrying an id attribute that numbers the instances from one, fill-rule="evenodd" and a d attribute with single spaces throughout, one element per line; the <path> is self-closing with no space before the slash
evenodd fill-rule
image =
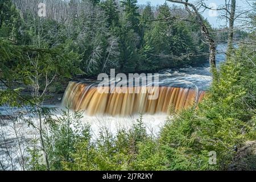
<path id="1" fill-rule="evenodd" d="M 142 14 L 135 0 L 121 1 L 120 5 L 123 11 L 119 11 L 114 0 L 70 1 L 67 13 L 60 18 L 55 18 L 51 11 L 46 18 L 40 18 L 33 9 L 24 10 L 18 5 L 17 10 L 11 1 L 4 1 L 0 6 L 0 36 L 31 49 L 62 49 L 62 55 L 68 57 L 67 64 L 82 71 L 67 67 L 75 69 L 72 74 L 67 72 L 69 77 L 96 76 L 111 68 L 125 73 L 158 71 L 205 60 L 195 56 L 206 50 L 195 24 L 168 20 L 139 26 L 139 22 L 171 15 L 167 4 L 157 10 L 147 4 Z M 155 17 L 156 12 L 162 13 Z M 56 80 L 61 81 L 61 76 Z"/>

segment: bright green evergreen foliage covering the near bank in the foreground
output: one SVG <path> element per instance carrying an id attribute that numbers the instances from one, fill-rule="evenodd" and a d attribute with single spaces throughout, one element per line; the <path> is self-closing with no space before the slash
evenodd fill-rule
<path id="1" fill-rule="evenodd" d="M 129 129 L 116 134 L 102 127 L 92 137 L 81 124 L 81 113 L 61 117 L 42 110 L 44 132 L 53 170 L 220 170 L 228 169 L 237 150 L 256 139 L 255 56 L 241 47 L 220 68 L 204 100 L 176 113 L 159 136 L 146 131 L 142 115 Z M 31 144 L 27 168 L 46 169 L 38 143 Z M 217 164 L 209 163 L 209 152 Z M 40 161 L 40 160 L 39 160 Z"/>

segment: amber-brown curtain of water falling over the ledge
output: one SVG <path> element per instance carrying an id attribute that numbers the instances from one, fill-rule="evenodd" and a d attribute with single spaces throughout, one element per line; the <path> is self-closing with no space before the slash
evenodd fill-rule
<path id="1" fill-rule="evenodd" d="M 133 90 L 143 89 L 134 87 Z M 204 91 L 191 88 L 159 86 L 159 97 L 148 100 L 147 92 L 100 93 L 97 86 L 70 81 L 65 90 L 62 105 L 73 110 L 83 110 L 87 115 L 131 115 L 137 113 L 168 113 L 178 111 L 199 102 Z"/>

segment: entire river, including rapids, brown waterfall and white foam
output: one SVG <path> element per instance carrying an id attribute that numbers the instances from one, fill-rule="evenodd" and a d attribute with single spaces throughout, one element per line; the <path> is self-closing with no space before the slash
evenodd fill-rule
<path id="1" fill-rule="evenodd" d="M 216 63 L 219 67 L 225 61 L 223 52 L 226 51 L 226 45 L 219 45 L 217 51 Z M 60 109 L 65 109 L 64 106 L 67 104 L 65 99 L 68 98 L 73 104 L 73 109 L 84 111 L 82 122 L 89 123 L 94 138 L 97 138 L 102 127 L 107 128 L 111 133 L 115 133 L 119 128 L 129 129 L 139 117 L 139 113 L 143 113 L 143 122 L 147 131 L 157 134 L 168 119 L 170 103 L 174 105 L 175 110 L 178 110 L 191 105 L 194 101 L 200 101 L 211 82 L 209 63 L 197 67 L 166 69 L 159 72 L 159 98 L 148 101 L 144 98 L 145 94 L 97 94 L 92 89 L 93 85 L 98 84 L 97 81 L 72 81 L 63 96 L 62 105 L 57 105 L 59 111 L 56 115 L 59 115 Z M 47 106 L 52 107 L 52 105 Z M 0 107 L 3 118 L 0 126 L 0 162 L 5 166 L 11 166 L 11 163 L 6 160 L 11 157 L 16 162 L 13 164 L 14 169 L 20 169 L 18 162 L 21 154 L 13 151 L 22 153 L 27 141 L 36 135 L 35 131 L 22 119 L 16 123 L 12 119 L 5 119 L 18 113 L 26 115 L 26 109 Z M 22 150 L 17 150 L 19 146 L 14 126 L 18 130 Z"/>

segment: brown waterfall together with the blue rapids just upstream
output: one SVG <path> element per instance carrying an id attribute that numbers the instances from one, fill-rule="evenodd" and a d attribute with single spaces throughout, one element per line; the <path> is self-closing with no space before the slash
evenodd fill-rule
<path id="1" fill-rule="evenodd" d="M 225 61 L 225 54 L 222 53 L 225 49 L 226 45 L 217 47 L 217 65 Z M 159 72 L 159 95 L 156 100 L 148 100 L 148 92 L 99 93 L 97 81 L 71 81 L 65 90 L 62 105 L 69 105 L 73 110 L 83 110 L 86 115 L 125 116 L 178 111 L 201 101 L 212 81 L 209 70 L 209 64 L 204 64 L 200 67 L 188 66 Z M 133 90 L 142 89 L 140 86 L 133 87 Z"/>

